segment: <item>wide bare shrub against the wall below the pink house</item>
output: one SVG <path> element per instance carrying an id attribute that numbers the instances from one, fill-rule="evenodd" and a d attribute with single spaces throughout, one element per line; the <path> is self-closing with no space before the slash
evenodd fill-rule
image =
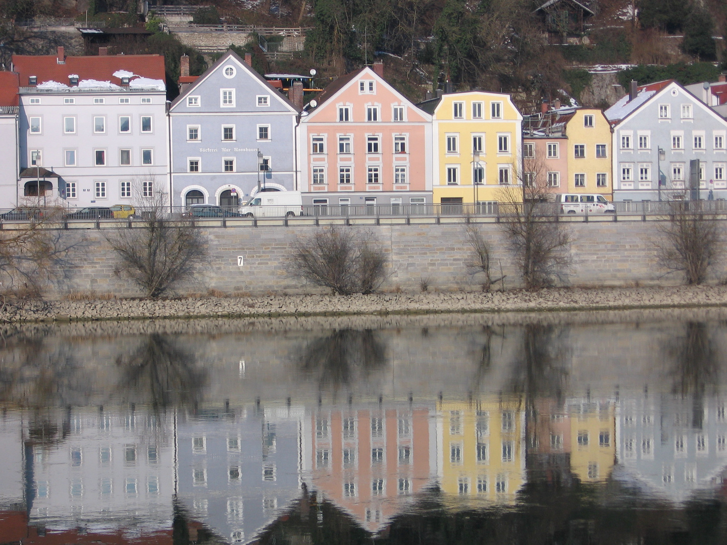
<path id="1" fill-rule="evenodd" d="M 286 268 L 334 294 L 370 294 L 386 278 L 386 257 L 373 245 L 370 232 L 328 227 L 294 243 Z"/>

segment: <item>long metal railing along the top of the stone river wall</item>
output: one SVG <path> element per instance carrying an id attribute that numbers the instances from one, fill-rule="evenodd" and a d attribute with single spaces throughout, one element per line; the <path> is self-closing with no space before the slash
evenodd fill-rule
<path id="1" fill-rule="evenodd" d="M 583 209 L 565 209 L 583 205 Z M 142 227 L 160 219 L 188 222 L 190 225 L 250 226 L 258 225 L 324 225 L 432 223 L 432 222 L 507 222 L 524 214 L 539 221 L 619 221 L 658 220 L 670 214 L 687 211 L 710 214 L 727 219 L 727 201 L 624 201 L 614 204 L 614 211 L 603 213 L 588 208 L 589 203 L 454 203 L 454 204 L 361 204 L 361 205 L 287 205 L 287 206 L 169 206 L 164 209 L 135 207 L 132 211 L 107 207 L 93 209 L 59 209 L 25 206 L 0 210 L 0 229 L 17 229 L 28 222 L 44 222 L 49 227 Z M 590 203 L 593 204 L 593 203 Z M 322 222 L 322 223 L 321 223 Z"/>

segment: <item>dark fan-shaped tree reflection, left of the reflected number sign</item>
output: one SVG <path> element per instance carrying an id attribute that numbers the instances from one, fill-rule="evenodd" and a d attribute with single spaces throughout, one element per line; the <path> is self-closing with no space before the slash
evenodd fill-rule
<path id="1" fill-rule="evenodd" d="M 116 365 L 122 400 L 148 404 L 153 411 L 194 405 L 206 387 L 207 371 L 170 336 L 147 336 L 130 358 L 119 358 Z"/>

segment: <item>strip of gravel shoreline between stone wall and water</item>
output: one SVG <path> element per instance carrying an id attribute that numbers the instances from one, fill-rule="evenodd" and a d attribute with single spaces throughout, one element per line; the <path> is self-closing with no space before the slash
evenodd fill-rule
<path id="1" fill-rule="evenodd" d="M 548 288 L 494 293 L 268 295 L 188 299 L 28 301 L 6 304 L 4 323 L 159 318 L 265 318 L 727 307 L 727 286 Z"/>

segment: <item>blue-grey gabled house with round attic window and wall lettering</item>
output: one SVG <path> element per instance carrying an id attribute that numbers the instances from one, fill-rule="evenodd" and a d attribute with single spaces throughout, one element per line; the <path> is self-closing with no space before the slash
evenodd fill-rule
<path id="1" fill-rule="evenodd" d="M 169 107 L 172 205 L 297 189 L 300 109 L 232 51 Z"/>

